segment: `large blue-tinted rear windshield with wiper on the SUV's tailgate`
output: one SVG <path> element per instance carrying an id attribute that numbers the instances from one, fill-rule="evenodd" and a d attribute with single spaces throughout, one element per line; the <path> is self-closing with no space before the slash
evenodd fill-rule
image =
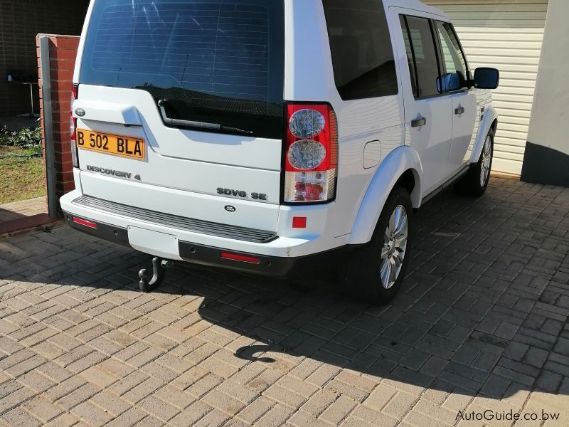
<path id="1" fill-rule="evenodd" d="M 280 138 L 284 19 L 283 0 L 97 0 L 79 83 L 146 90 L 169 118 Z"/>

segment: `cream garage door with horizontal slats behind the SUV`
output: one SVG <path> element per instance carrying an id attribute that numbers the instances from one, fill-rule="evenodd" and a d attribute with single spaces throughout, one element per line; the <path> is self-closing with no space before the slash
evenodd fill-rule
<path id="1" fill-rule="evenodd" d="M 452 19 L 472 70 L 499 68 L 494 171 L 521 173 L 547 0 L 423 0 Z"/>

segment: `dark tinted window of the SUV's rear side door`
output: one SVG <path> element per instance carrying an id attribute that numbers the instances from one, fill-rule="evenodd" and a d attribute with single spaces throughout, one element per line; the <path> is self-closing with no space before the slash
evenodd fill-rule
<path id="1" fill-rule="evenodd" d="M 440 76 L 435 38 L 430 20 L 418 16 L 400 16 L 405 49 L 415 97 L 440 95 Z M 406 35 L 405 35 L 406 34 Z"/>

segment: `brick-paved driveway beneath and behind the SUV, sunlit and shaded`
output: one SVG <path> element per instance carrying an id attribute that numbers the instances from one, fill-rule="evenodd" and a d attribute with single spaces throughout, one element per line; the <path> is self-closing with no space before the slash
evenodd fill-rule
<path id="1" fill-rule="evenodd" d="M 386 307 L 186 266 L 144 295 L 146 255 L 67 227 L 0 240 L 0 424 L 567 426 L 568 211 L 569 189 L 505 179 L 442 194 Z"/>

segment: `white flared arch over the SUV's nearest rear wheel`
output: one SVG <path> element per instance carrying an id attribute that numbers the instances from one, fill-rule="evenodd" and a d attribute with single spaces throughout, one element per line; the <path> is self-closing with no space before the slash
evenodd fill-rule
<path id="1" fill-rule="evenodd" d="M 349 244 L 359 245 L 371 240 L 385 201 L 395 186 L 407 189 L 413 208 L 420 207 L 421 176 L 422 164 L 415 149 L 405 145 L 393 150 L 371 179 L 353 223 Z"/>

